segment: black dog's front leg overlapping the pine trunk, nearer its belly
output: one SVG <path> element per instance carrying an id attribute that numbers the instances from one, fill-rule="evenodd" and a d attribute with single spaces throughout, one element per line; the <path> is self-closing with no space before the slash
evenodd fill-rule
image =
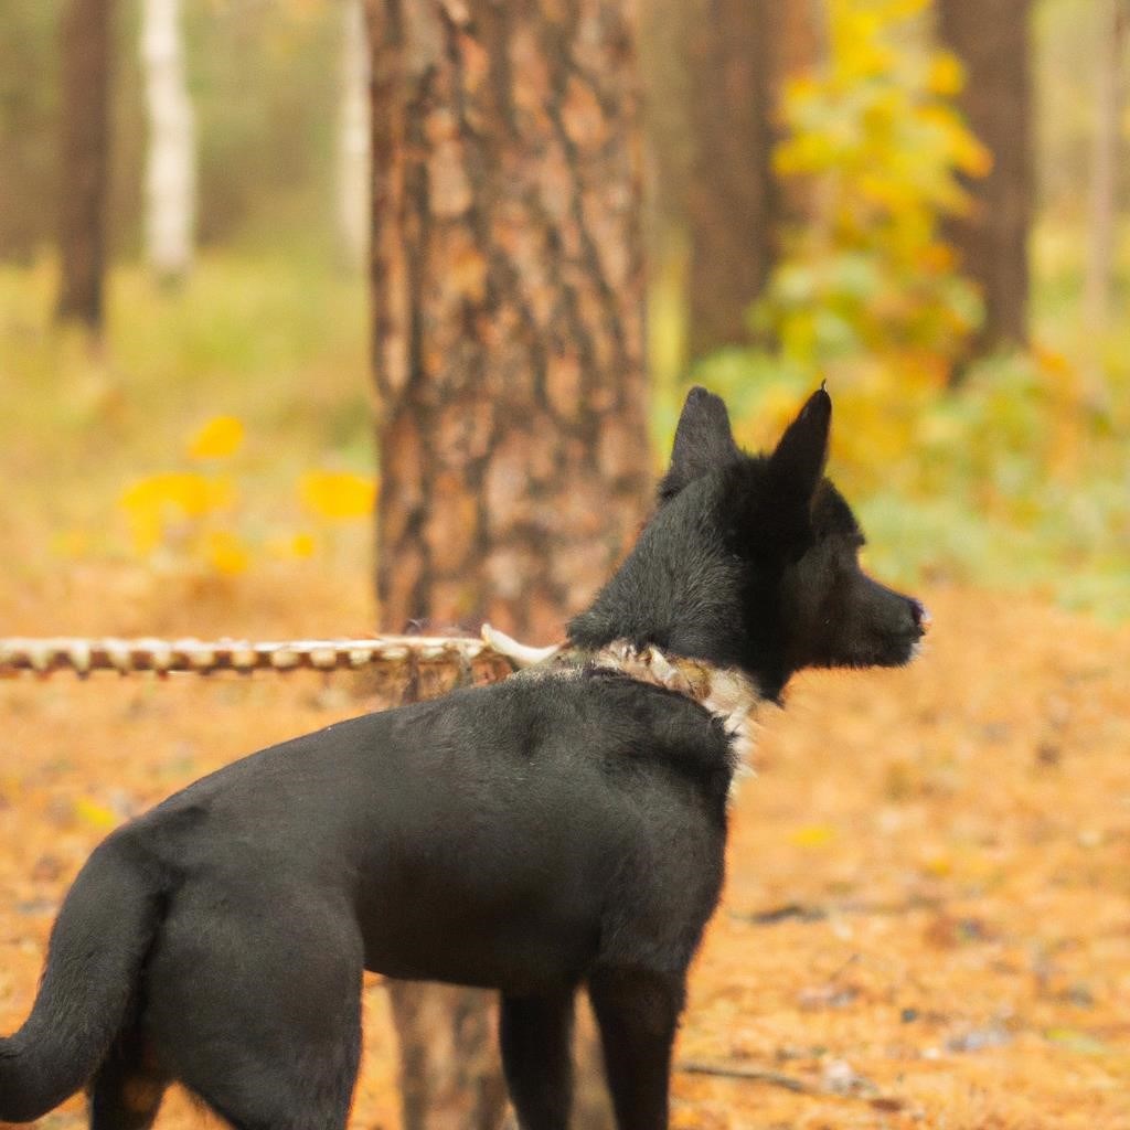
<path id="1" fill-rule="evenodd" d="M 573 992 L 503 997 L 502 1060 L 522 1130 L 566 1130 L 573 1098 Z"/>

